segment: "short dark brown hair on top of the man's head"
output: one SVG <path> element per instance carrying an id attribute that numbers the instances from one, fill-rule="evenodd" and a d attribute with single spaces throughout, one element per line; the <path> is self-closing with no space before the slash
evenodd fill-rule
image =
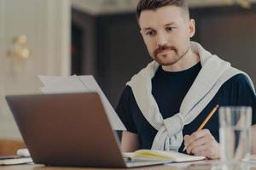
<path id="1" fill-rule="evenodd" d="M 189 7 L 186 0 L 140 0 L 137 3 L 137 20 L 139 20 L 143 10 L 155 10 L 156 8 L 174 5 L 183 8 L 184 14 L 189 18 Z"/>

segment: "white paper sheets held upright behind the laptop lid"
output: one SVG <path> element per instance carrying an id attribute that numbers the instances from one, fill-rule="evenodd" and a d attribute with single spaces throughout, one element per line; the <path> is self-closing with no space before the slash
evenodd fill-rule
<path id="1" fill-rule="evenodd" d="M 44 84 L 40 88 L 44 94 L 67 94 L 67 93 L 83 93 L 96 92 L 102 99 L 102 105 L 107 113 L 108 120 L 113 130 L 126 130 L 123 122 L 120 121 L 112 105 L 110 105 L 107 97 L 103 94 L 102 89 L 91 75 L 71 77 L 49 77 L 38 76 Z"/>

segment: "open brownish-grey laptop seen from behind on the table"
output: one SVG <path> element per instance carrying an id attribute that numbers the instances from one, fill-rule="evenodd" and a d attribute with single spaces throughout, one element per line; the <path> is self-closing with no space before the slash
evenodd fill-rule
<path id="1" fill-rule="evenodd" d="M 96 93 L 6 97 L 34 163 L 140 167 L 167 161 L 125 161 Z"/>

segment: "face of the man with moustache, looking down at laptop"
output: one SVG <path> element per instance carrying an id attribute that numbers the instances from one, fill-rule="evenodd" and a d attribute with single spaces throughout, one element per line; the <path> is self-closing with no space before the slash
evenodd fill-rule
<path id="1" fill-rule="evenodd" d="M 139 25 L 148 53 L 160 65 L 177 63 L 195 34 L 195 21 L 187 19 L 182 8 L 171 5 L 143 10 Z"/>

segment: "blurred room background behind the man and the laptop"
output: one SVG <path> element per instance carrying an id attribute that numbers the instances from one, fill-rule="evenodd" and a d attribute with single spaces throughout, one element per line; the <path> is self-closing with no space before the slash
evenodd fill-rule
<path id="1" fill-rule="evenodd" d="M 151 60 L 138 0 L 0 0 L 0 155 L 24 147 L 7 94 L 38 94 L 38 75 L 93 75 L 115 107 Z M 194 41 L 256 83 L 256 0 L 189 0 Z"/>

